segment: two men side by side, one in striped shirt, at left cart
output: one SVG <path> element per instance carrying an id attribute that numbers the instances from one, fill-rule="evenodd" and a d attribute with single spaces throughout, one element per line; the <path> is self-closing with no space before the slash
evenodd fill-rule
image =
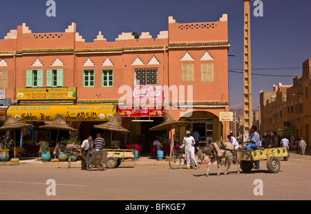
<path id="1" fill-rule="evenodd" d="M 91 149 L 104 149 L 105 140 L 102 138 L 101 133 L 97 133 L 95 141 L 92 140 L 92 136 L 88 136 L 86 140 L 82 142 L 80 149 L 81 159 L 81 169 L 86 170 L 86 157 L 88 156 L 88 151 Z"/>

